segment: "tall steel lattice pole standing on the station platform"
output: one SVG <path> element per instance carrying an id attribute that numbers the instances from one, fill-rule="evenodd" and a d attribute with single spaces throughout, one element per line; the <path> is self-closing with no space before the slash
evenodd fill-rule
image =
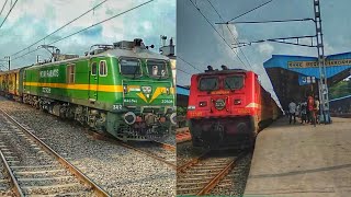
<path id="1" fill-rule="evenodd" d="M 329 114 L 329 96 L 328 96 L 328 84 L 326 76 L 326 62 L 325 62 L 325 48 L 322 43 L 321 32 L 321 19 L 320 19 L 320 3 L 319 0 L 314 0 L 315 10 L 315 24 L 316 24 L 316 36 L 317 36 L 317 50 L 318 50 L 318 67 L 319 67 L 319 101 L 321 108 L 319 109 L 319 123 L 330 124 Z"/>

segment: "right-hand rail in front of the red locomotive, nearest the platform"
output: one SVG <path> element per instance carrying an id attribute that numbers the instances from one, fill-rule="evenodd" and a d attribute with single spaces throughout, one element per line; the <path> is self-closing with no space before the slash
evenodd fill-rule
<path id="1" fill-rule="evenodd" d="M 242 151 L 237 158 L 235 158 L 227 166 L 225 166 L 211 182 L 202 188 L 197 195 L 206 195 L 235 167 L 238 160 L 247 154 L 247 151 Z"/>

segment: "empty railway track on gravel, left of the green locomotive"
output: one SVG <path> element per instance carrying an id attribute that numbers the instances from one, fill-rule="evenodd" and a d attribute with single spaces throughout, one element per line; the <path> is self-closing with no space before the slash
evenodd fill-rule
<path id="1" fill-rule="evenodd" d="M 110 196 L 0 109 L 0 157 L 16 196 Z"/>

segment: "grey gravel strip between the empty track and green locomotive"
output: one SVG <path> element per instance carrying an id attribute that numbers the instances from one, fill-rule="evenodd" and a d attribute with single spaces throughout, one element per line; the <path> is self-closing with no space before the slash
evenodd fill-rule
<path id="1" fill-rule="evenodd" d="M 0 107 L 113 196 L 176 196 L 176 171 L 136 151 L 93 139 L 76 123 L 0 97 Z"/>

